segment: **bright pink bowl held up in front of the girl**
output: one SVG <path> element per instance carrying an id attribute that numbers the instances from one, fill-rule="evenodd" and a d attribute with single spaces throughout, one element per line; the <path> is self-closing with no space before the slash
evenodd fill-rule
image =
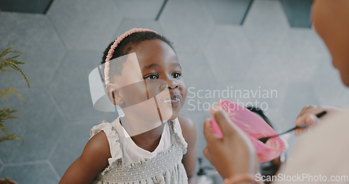
<path id="1" fill-rule="evenodd" d="M 280 137 L 273 137 L 265 144 L 258 140 L 261 137 L 272 136 L 277 133 L 253 112 L 229 100 L 219 100 L 217 105 L 221 106 L 228 113 L 232 123 L 242 129 L 251 139 L 258 156 L 258 162 L 263 163 L 274 160 L 285 151 L 285 144 L 283 144 Z M 214 129 L 216 135 L 223 137 L 221 129 L 214 118 L 212 118 L 211 127 Z"/>

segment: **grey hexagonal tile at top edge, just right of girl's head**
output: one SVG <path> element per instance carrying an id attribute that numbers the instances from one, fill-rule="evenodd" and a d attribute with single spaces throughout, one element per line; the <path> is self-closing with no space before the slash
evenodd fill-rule
<path id="1" fill-rule="evenodd" d="M 183 0 L 168 1 L 159 22 L 179 53 L 201 52 L 214 26 L 205 3 Z"/>

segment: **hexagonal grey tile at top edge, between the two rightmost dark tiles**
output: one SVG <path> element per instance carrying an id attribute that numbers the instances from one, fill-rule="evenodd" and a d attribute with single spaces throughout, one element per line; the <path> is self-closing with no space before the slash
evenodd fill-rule
<path id="1" fill-rule="evenodd" d="M 290 26 L 279 1 L 253 1 L 243 27 L 256 52 L 275 54 Z"/>

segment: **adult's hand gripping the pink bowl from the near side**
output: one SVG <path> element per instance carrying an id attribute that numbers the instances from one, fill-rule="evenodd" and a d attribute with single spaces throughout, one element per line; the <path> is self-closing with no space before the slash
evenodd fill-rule
<path id="1" fill-rule="evenodd" d="M 255 149 L 248 137 L 232 124 L 228 114 L 217 107 L 212 108 L 213 116 L 223 132 L 218 137 L 211 128 L 210 119 L 205 120 L 204 135 L 207 146 L 205 157 L 216 168 L 222 178 L 235 174 L 253 174 L 258 171 Z"/>

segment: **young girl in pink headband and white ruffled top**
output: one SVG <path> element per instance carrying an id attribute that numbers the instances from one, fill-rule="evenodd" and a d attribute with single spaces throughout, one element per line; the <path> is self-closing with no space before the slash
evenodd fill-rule
<path id="1" fill-rule="evenodd" d="M 91 129 L 59 183 L 196 183 L 196 130 L 179 115 L 186 85 L 171 43 L 131 29 L 107 47 L 102 64 L 107 95 L 125 116 Z"/>

